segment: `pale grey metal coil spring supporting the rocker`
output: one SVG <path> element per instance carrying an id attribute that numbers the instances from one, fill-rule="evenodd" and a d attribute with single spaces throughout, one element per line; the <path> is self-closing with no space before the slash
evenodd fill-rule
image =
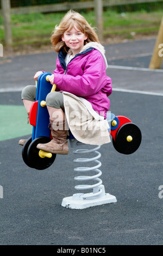
<path id="1" fill-rule="evenodd" d="M 102 180 L 99 179 L 99 176 L 102 175 L 101 170 L 99 170 L 98 168 L 101 167 L 102 163 L 100 161 L 98 161 L 97 159 L 99 159 L 101 157 L 101 153 L 99 153 L 97 150 L 101 148 L 101 146 L 98 146 L 96 148 L 93 149 L 77 149 L 74 150 L 73 153 L 74 154 L 84 154 L 84 153 L 95 153 L 96 156 L 92 157 L 92 158 L 80 158 L 80 159 L 74 159 L 73 161 L 76 163 L 85 163 L 85 162 L 94 162 L 97 165 L 93 166 L 93 167 L 77 167 L 74 168 L 74 171 L 76 172 L 88 172 L 88 171 L 94 171 L 97 174 L 96 175 L 92 175 L 92 176 L 76 176 L 74 178 L 74 180 L 78 180 L 78 181 L 86 181 L 86 180 L 96 180 L 97 183 L 93 184 L 93 185 L 77 185 L 74 188 L 76 188 L 76 190 L 87 190 L 90 188 L 95 188 L 98 187 L 102 184 Z M 90 194 L 84 194 L 84 196 L 82 196 L 83 198 L 90 198 L 90 197 L 95 197 L 98 194 L 102 193 L 102 189 L 100 188 L 98 192 L 96 193 L 90 193 Z"/>

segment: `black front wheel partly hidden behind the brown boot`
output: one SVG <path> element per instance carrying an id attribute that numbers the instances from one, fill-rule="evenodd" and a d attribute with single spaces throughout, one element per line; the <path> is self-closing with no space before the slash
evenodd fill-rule
<path id="1" fill-rule="evenodd" d="M 50 167 L 52 165 L 52 163 L 54 162 L 56 154 L 52 154 L 51 158 L 48 158 L 48 157 L 41 158 L 39 156 L 40 149 L 36 148 L 37 144 L 48 143 L 49 141 L 51 141 L 51 139 L 49 137 L 39 137 L 39 138 L 34 139 L 30 143 L 30 145 L 28 147 L 28 151 L 27 151 L 27 157 L 28 157 L 28 161 L 31 164 L 32 168 L 35 168 L 37 170 L 43 170 L 43 169 Z"/>

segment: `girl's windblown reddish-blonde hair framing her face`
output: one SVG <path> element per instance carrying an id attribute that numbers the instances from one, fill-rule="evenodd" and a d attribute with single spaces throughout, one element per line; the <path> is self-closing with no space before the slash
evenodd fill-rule
<path id="1" fill-rule="evenodd" d="M 51 43 L 55 52 L 59 52 L 61 48 L 64 48 L 66 52 L 68 51 L 65 42 L 62 41 L 62 35 L 65 31 L 70 31 L 74 26 L 76 26 L 82 33 L 87 35 L 87 39 L 84 41 L 84 45 L 88 42 L 99 42 L 94 28 L 89 25 L 85 18 L 76 11 L 70 10 L 62 18 L 59 26 L 55 26 L 55 29 L 52 33 Z"/>

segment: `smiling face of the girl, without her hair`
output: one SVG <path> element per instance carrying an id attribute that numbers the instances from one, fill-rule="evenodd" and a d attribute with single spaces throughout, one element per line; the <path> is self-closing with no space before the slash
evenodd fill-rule
<path id="1" fill-rule="evenodd" d="M 72 50 L 73 56 L 82 50 L 84 46 L 84 40 L 86 39 L 87 35 L 79 31 L 77 27 L 73 27 L 70 31 L 65 31 L 62 35 L 62 41 L 64 41 L 67 47 Z"/>

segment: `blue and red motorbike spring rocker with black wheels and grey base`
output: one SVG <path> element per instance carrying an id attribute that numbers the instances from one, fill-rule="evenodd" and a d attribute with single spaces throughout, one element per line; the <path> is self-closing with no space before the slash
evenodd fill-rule
<path id="1" fill-rule="evenodd" d="M 36 101 L 33 102 L 29 113 L 29 122 L 33 125 L 32 136 L 29 137 L 24 143 L 22 148 L 22 158 L 24 163 L 28 167 L 37 170 L 43 170 L 52 165 L 55 161 L 56 154 L 51 154 L 36 148 L 39 143 L 47 143 L 51 141 L 51 130 L 48 129 L 49 124 L 49 113 L 46 107 L 46 96 L 49 92 L 55 90 L 55 84 L 52 86 L 48 81 L 49 73 L 43 73 L 37 80 L 37 92 Z M 137 125 L 131 122 L 127 117 L 115 116 L 113 113 L 107 113 L 107 121 L 110 129 L 108 132 L 112 136 L 112 144 L 116 151 L 121 154 L 133 154 L 141 144 L 141 131 Z M 77 141 L 73 137 L 71 131 L 67 138 L 70 141 L 71 148 L 77 148 L 83 145 L 82 142 Z M 93 185 L 77 185 L 74 188 L 76 190 L 90 190 L 90 193 L 75 193 L 71 197 L 65 197 L 62 199 L 61 205 L 71 209 L 84 209 L 90 206 L 101 205 L 106 203 L 117 202 L 116 197 L 109 193 L 105 193 L 104 185 L 102 180 L 99 178 L 102 175 L 101 167 L 102 163 L 99 161 L 101 153 L 97 150 L 101 146 L 95 146 L 93 149 L 75 149 L 73 150 L 74 155 L 84 155 L 86 157 L 77 158 L 73 161 L 76 163 L 93 163 L 93 167 L 77 167 L 74 168 L 76 172 L 95 172 L 94 175 L 83 175 L 76 176 L 74 180 L 77 181 L 95 181 Z M 93 157 L 87 157 L 91 155 Z"/>

